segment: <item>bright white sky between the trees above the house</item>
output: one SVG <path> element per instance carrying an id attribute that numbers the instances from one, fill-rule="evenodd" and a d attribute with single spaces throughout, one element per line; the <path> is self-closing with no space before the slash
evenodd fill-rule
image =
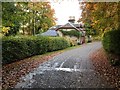
<path id="1" fill-rule="evenodd" d="M 69 16 L 75 16 L 76 21 L 81 16 L 78 0 L 58 0 L 58 2 L 52 0 L 51 7 L 55 10 L 56 23 L 59 25 L 67 23 Z"/>

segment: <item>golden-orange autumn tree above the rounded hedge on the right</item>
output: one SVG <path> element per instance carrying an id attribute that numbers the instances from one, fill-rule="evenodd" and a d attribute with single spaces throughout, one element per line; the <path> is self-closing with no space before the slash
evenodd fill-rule
<path id="1" fill-rule="evenodd" d="M 102 33 L 118 29 L 118 2 L 84 2 L 81 9 L 85 24 L 101 35 Z"/>

